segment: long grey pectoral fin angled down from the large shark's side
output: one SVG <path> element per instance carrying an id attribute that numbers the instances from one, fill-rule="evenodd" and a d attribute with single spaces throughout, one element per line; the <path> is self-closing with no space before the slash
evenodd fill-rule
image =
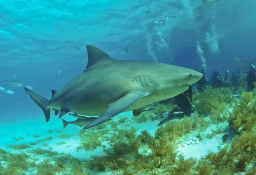
<path id="1" fill-rule="evenodd" d="M 126 94 L 125 96 L 122 96 L 119 100 L 116 102 L 113 102 L 108 105 L 108 109 L 102 113 L 97 119 L 95 119 L 93 122 L 88 124 L 83 129 L 88 129 L 91 127 L 95 127 L 98 124 L 103 123 L 104 121 L 107 121 L 111 119 L 112 117 L 116 116 L 119 113 L 122 113 L 124 110 L 128 109 L 131 105 L 139 101 L 144 96 L 147 96 L 146 93 L 143 92 L 131 92 Z"/>

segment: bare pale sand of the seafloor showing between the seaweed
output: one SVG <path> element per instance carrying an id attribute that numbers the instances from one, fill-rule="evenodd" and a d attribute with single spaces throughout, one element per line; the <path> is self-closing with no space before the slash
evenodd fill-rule
<path id="1" fill-rule="evenodd" d="M 132 115 L 131 112 L 121 113 L 120 116 L 130 116 Z M 67 121 L 73 121 L 75 120 L 72 116 L 64 116 L 63 119 L 67 119 Z M 206 117 L 207 120 L 209 120 L 209 117 Z M 118 120 L 118 117 L 113 118 L 114 121 Z M 131 126 L 138 129 L 138 133 L 142 130 L 147 130 L 151 135 L 154 135 L 155 131 L 157 130 L 157 124 L 163 119 L 159 119 L 156 121 L 147 121 L 145 123 L 135 123 L 132 120 L 127 120 L 125 123 L 119 125 L 119 128 L 125 128 L 124 124 L 131 124 Z M 178 119 L 174 119 L 178 120 Z M 79 150 L 77 151 L 76 147 L 80 145 L 80 139 L 77 133 L 81 129 L 80 127 L 76 125 L 68 125 L 65 129 L 62 129 L 63 125 L 60 119 L 58 119 L 57 116 L 52 116 L 49 122 L 45 122 L 44 119 L 38 119 L 38 120 L 20 120 L 16 121 L 15 123 L 5 123 L 0 124 L 0 148 L 16 153 L 16 152 L 26 152 L 29 149 L 36 149 L 41 148 L 48 150 L 49 147 L 51 147 L 56 152 L 64 152 L 67 154 L 71 154 L 73 157 L 78 158 L 79 160 L 85 160 L 90 158 L 91 155 L 104 155 L 103 148 L 98 147 L 93 151 L 86 152 L 85 150 Z M 201 132 L 201 135 L 207 135 L 208 133 L 211 134 L 212 130 L 215 130 L 217 128 L 217 125 L 210 124 L 209 127 Z M 231 144 L 231 140 L 234 136 L 234 132 L 231 127 L 228 126 L 227 122 L 221 123 L 218 125 L 218 128 L 221 128 L 222 133 L 213 136 L 213 138 L 203 138 L 200 141 L 196 141 L 196 144 L 189 144 L 184 145 L 187 143 L 187 141 L 192 140 L 192 138 L 195 139 L 195 136 L 198 134 L 198 131 L 192 131 L 192 133 L 183 135 L 179 140 L 179 145 L 177 148 L 178 153 L 184 155 L 185 158 L 201 158 L 201 156 L 204 156 L 207 154 L 207 152 L 218 152 L 219 149 L 223 148 L 226 144 Z M 52 133 L 48 133 L 49 130 L 52 130 Z M 56 137 L 57 135 L 60 135 L 62 133 L 57 133 L 57 131 L 62 131 L 64 134 L 72 134 L 71 138 L 68 139 L 61 139 Z M 228 140 L 223 143 L 222 136 L 228 133 Z M 34 138 L 33 135 L 39 135 L 39 138 Z M 47 136 L 53 136 L 52 140 L 47 140 L 41 143 L 38 143 L 36 145 L 31 146 L 32 148 L 27 148 L 24 150 L 13 150 L 8 147 L 9 144 L 29 144 L 34 143 L 38 141 L 39 139 L 45 138 Z M 13 137 L 23 137 L 24 140 L 15 141 Z M 56 143 L 64 141 L 66 144 L 57 146 Z M 46 143 L 48 147 L 44 147 L 43 144 Z M 39 158 L 39 162 L 44 160 L 44 155 L 37 155 L 36 158 Z M 84 169 L 86 172 L 90 172 L 92 175 L 108 175 L 111 174 L 111 171 L 105 171 L 105 172 L 99 172 L 96 170 L 91 170 L 89 168 Z M 29 169 L 26 174 L 29 175 L 31 172 L 36 172 L 36 168 Z"/>

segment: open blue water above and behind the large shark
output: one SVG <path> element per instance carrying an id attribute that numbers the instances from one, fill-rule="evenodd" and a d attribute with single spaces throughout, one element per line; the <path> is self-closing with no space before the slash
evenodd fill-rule
<path id="1" fill-rule="evenodd" d="M 5 79 L 17 81 L 49 99 L 50 90 L 59 90 L 84 71 L 86 45 L 118 60 L 157 60 L 201 71 L 199 41 L 208 77 L 214 70 L 224 75 L 236 67 L 227 59 L 240 55 L 256 59 L 256 1 L 220 0 L 212 8 L 196 9 L 201 4 L 201 0 L 0 0 L 0 86 Z M 217 45 L 210 44 L 207 32 Z M 121 55 L 126 47 L 128 53 Z M 211 53 L 212 47 L 218 51 Z M 44 121 L 43 112 L 23 88 L 6 86 L 6 90 L 15 94 L 0 91 L 4 96 L 0 122 Z"/>

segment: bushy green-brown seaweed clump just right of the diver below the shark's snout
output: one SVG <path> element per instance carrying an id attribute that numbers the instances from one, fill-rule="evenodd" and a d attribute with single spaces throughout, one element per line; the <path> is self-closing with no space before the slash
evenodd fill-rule
<path id="1" fill-rule="evenodd" d="M 203 93 L 193 96 L 193 104 L 201 115 L 209 115 L 212 110 L 219 110 L 233 102 L 232 92 L 229 88 L 207 88 Z"/>

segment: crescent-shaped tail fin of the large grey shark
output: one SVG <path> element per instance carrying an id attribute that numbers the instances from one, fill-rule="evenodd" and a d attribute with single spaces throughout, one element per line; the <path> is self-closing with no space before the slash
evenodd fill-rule
<path id="1" fill-rule="evenodd" d="M 31 99 L 44 111 L 45 120 L 46 122 L 50 119 L 50 109 L 46 108 L 46 104 L 48 100 L 36 93 L 33 93 L 28 88 L 24 88 L 26 90 L 26 93 L 31 97 Z"/>

